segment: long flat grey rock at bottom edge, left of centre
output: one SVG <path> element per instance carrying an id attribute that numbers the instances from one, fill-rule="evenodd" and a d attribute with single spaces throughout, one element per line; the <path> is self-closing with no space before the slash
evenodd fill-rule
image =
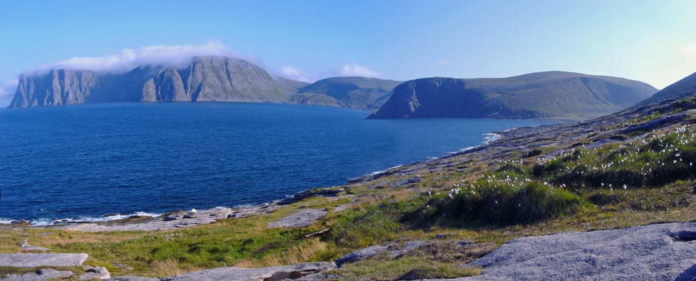
<path id="1" fill-rule="evenodd" d="M 236 268 L 221 267 L 204 271 L 196 271 L 183 275 L 164 278 L 163 281 L 263 281 L 297 279 L 305 275 L 328 271 L 335 268 L 335 264 L 329 262 L 309 262 L 290 266 L 271 266 L 264 268 Z"/>

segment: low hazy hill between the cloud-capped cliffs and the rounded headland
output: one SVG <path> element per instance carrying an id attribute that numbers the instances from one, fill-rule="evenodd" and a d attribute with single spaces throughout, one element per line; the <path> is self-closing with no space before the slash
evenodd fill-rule
<path id="1" fill-rule="evenodd" d="M 332 77 L 299 88 L 292 100 L 299 104 L 379 109 L 401 81 L 366 77 Z"/>

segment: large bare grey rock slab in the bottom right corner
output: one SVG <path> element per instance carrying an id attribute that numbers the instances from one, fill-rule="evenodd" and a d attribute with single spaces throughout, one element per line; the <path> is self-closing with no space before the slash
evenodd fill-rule
<path id="1" fill-rule="evenodd" d="M 514 239 L 457 280 L 695 280 L 696 223 Z"/>

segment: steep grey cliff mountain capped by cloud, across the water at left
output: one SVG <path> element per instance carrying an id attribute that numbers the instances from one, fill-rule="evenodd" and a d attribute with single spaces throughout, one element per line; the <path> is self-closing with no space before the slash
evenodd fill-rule
<path id="1" fill-rule="evenodd" d="M 306 83 L 271 76 L 239 58 L 197 56 L 183 68 L 136 67 L 122 74 L 50 70 L 23 74 L 8 108 L 88 102 L 290 102 Z"/>

